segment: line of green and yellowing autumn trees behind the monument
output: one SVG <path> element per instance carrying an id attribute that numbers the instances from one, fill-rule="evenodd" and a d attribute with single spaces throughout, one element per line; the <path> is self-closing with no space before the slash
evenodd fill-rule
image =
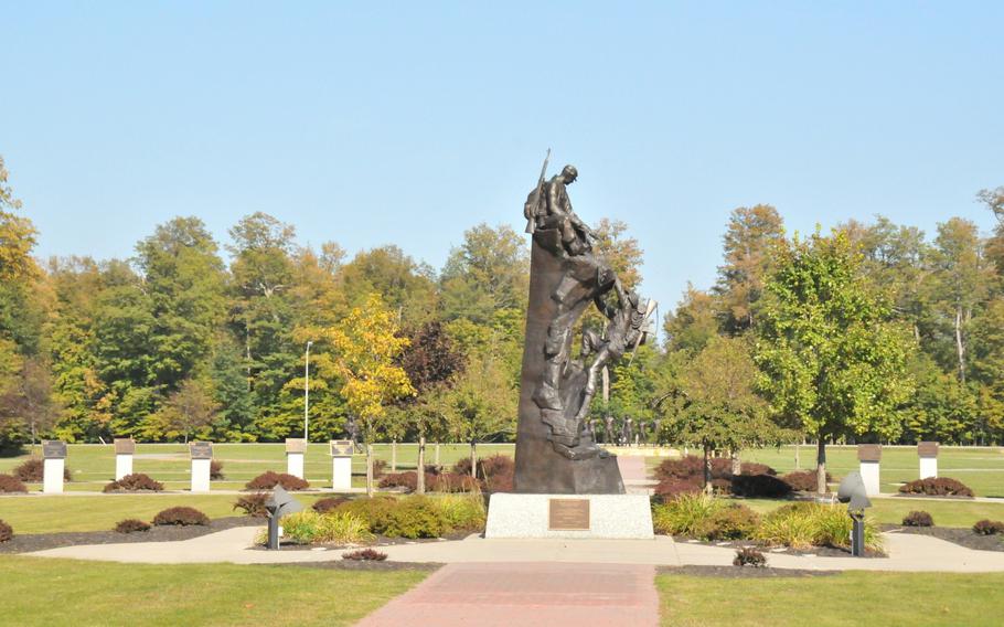
<path id="1" fill-rule="evenodd" d="M 979 200 L 1004 217 L 1004 189 Z M 597 232 L 637 287 L 627 225 Z M 266 213 L 222 243 L 175 217 L 128 259 L 40 261 L 36 235 L 0 160 L 0 446 L 298 437 L 308 342 L 312 440 L 514 437 L 530 263 L 510 226 L 469 229 L 438 269 L 394 245 L 305 246 Z M 951 217 L 928 237 L 879 216 L 800 237 L 770 205 L 736 209 L 715 285 L 611 369 L 592 424 L 724 451 L 1000 443 L 1002 276 L 1004 226 Z"/>

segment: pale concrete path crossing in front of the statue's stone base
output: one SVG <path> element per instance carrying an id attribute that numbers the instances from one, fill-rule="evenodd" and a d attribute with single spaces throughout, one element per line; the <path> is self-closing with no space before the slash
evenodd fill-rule
<path id="1" fill-rule="evenodd" d="M 261 551 L 252 549 L 257 528 L 243 527 L 179 542 L 92 544 L 64 546 L 30 553 L 41 557 L 71 557 L 109 562 L 185 564 L 231 562 L 276 564 L 340 560 L 344 550 Z M 902 572 L 1004 572 L 1004 552 L 974 551 L 931 538 L 909 533 L 885 533 L 887 559 L 823 557 L 769 552 L 768 563 L 777 568 L 820 571 Z M 590 563 L 633 565 L 729 565 L 735 546 L 655 540 L 466 540 L 416 542 L 381 546 L 388 560 L 421 563 Z"/>

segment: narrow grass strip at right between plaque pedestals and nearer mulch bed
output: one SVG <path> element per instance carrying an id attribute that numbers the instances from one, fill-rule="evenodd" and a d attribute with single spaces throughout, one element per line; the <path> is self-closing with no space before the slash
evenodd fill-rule
<path id="1" fill-rule="evenodd" d="M 791 501 L 777 499 L 737 499 L 754 510 L 766 513 Z M 872 499 L 868 517 L 879 523 L 900 524 L 902 517 L 915 510 L 931 514 L 938 527 L 972 527 L 978 520 L 1004 520 L 1004 503 L 933 499 Z"/>

